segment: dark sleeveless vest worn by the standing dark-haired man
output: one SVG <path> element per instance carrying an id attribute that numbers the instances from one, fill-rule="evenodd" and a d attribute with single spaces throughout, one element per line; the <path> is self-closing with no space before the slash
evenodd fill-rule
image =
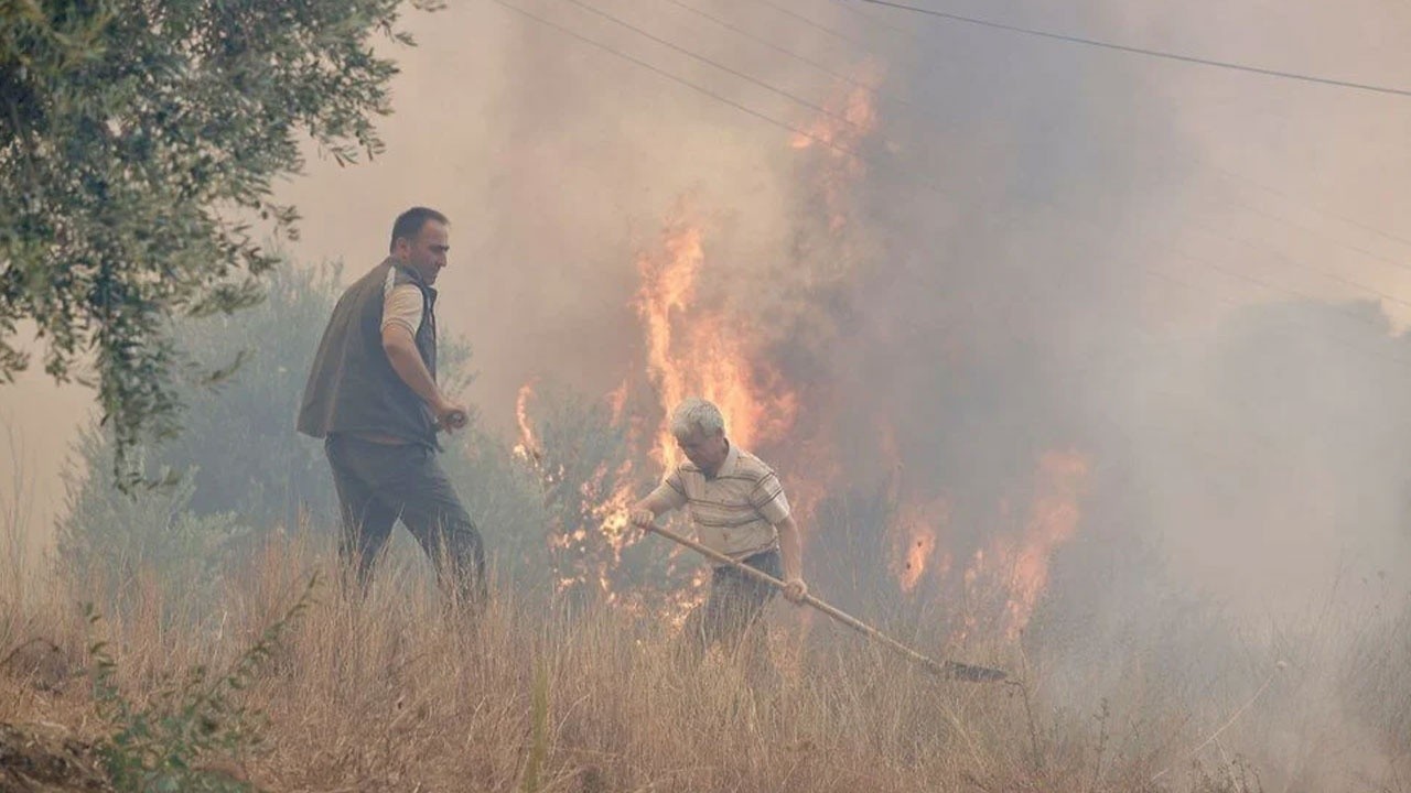
<path id="1" fill-rule="evenodd" d="M 402 382 L 382 350 L 388 272 L 396 285 L 413 284 L 422 292 L 416 350 L 436 378 L 436 289 L 416 271 L 388 258 L 349 286 L 333 308 L 303 387 L 299 432 L 313 437 L 339 432 L 389 435 L 436 449 L 432 409 Z"/>

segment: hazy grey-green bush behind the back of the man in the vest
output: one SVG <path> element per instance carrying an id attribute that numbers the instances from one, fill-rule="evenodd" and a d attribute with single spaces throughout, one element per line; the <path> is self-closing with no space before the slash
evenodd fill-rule
<path id="1" fill-rule="evenodd" d="M 334 514 L 333 485 L 317 442 L 293 432 L 303 381 L 319 336 L 339 296 L 337 265 L 285 265 L 271 272 L 267 298 L 234 315 L 185 317 L 174 323 L 176 349 L 195 360 L 234 360 L 240 367 L 216 385 L 181 381 L 186 432 L 159 444 L 133 447 L 128 470 L 148 480 L 182 481 L 189 492 L 179 511 L 200 516 L 240 514 L 247 526 L 292 526 L 301 511 Z M 452 371 L 456 371 L 453 356 Z M 113 436 L 89 430 L 69 476 L 69 521 L 102 535 L 157 531 L 143 525 L 148 502 L 113 492 Z M 100 518 L 86 504 L 102 505 Z M 126 518 L 123 518 L 126 516 Z M 128 526 L 117 531 L 116 526 Z M 135 536 L 134 535 L 134 536 Z"/>

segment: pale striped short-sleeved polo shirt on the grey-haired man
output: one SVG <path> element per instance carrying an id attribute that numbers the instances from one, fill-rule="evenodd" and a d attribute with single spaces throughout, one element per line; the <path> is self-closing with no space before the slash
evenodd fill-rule
<path id="1" fill-rule="evenodd" d="M 696 539 L 735 559 L 777 547 L 775 526 L 789 516 L 789 500 L 773 468 L 735 444 L 714 477 L 682 463 L 652 500 L 673 509 L 686 507 Z"/>

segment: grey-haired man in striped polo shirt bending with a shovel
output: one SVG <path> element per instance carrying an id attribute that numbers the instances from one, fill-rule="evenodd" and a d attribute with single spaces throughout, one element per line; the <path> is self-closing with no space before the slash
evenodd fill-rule
<path id="1" fill-rule="evenodd" d="M 684 507 L 701 545 L 783 579 L 785 597 L 801 603 L 809 587 L 800 571 L 799 526 L 775 471 L 725 437 L 720 409 L 704 399 L 677 405 L 672 435 L 687 461 L 632 507 L 632 523 L 648 529 L 663 512 Z M 687 619 L 686 648 L 694 658 L 717 642 L 738 649 L 772 597 L 768 584 L 731 566 L 715 567 L 710 597 Z M 768 655 L 761 655 L 766 650 L 762 626 L 752 634 L 751 660 L 768 663 Z"/>

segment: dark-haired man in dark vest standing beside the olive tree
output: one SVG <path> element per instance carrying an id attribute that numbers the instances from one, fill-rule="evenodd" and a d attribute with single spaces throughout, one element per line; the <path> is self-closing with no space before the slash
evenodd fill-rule
<path id="1" fill-rule="evenodd" d="M 325 439 L 343 515 L 339 557 L 367 591 L 378 552 L 401 518 L 437 580 L 463 601 L 484 597 L 480 532 L 436 461 L 436 432 L 467 411 L 436 385 L 436 275 L 446 216 L 426 207 L 392 224 L 391 255 L 350 286 L 319 341 L 299 432 Z"/>

